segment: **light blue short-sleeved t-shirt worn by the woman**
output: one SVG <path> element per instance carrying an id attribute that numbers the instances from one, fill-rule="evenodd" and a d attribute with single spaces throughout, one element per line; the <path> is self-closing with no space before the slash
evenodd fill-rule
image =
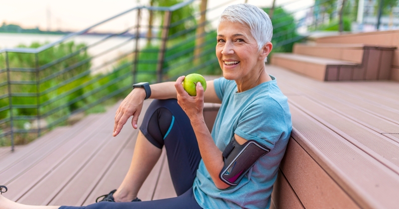
<path id="1" fill-rule="evenodd" d="M 223 151 L 234 133 L 265 145 L 270 152 L 256 161 L 237 186 L 219 190 L 203 161 L 200 161 L 193 190 L 203 209 L 266 209 L 277 178 L 277 171 L 291 134 L 292 123 L 287 98 L 276 79 L 237 93 L 235 81 L 214 80 L 222 101 L 212 129 L 216 146 Z"/>

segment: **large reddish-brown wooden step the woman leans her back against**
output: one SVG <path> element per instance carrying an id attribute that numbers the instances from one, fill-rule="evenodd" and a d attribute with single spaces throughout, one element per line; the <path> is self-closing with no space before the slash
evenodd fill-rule
<path id="1" fill-rule="evenodd" d="M 272 66 L 267 72 L 290 104 L 293 140 L 280 169 L 303 206 L 395 208 L 398 83 L 323 83 Z"/>

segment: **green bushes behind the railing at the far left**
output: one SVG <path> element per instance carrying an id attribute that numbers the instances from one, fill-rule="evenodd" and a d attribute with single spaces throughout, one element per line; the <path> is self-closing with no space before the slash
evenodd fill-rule
<path id="1" fill-rule="evenodd" d="M 32 43 L 29 47 L 40 46 L 39 43 Z M 26 46 L 19 45 L 18 47 Z M 13 116 L 36 118 L 39 114 L 49 127 L 66 124 L 67 117 L 73 111 L 86 110 L 115 91 L 126 89 L 133 80 L 132 63 L 127 59 L 119 61 L 117 67 L 110 73 L 92 75 L 90 73 L 91 58 L 86 51 L 86 46 L 73 42 L 51 47 L 38 53 L 37 56 L 28 53 L 8 53 L 8 60 L 10 79 L 14 83 L 19 83 L 10 86 L 13 94 L 11 97 Z M 0 54 L 0 70 L 5 69 L 4 63 L 5 55 Z M 37 67 L 41 69 L 39 73 L 36 73 Z M 0 77 L 1 81 L 6 81 L 6 72 L 0 73 Z M 38 81 L 40 81 L 39 85 L 37 85 Z M 0 96 L 7 93 L 6 85 L 0 87 Z M 40 97 L 37 98 L 39 94 Z M 116 99 L 125 95 L 126 92 L 121 92 L 116 95 Z M 0 108 L 9 105 L 8 99 L 8 97 L 0 99 Z M 40 104 L 39 107 L 37 104 Z M 100 106 L 95 105 L 90 112 L 104 111 L 104 107 Z M 9 117 L 9 109 L 0 111 L 0 120 Z M 26 123 L 33 124 L 35 121 L 28 118 L 14 118 L 13 123 L 14 129 L 24 129 Z M 0 132 L 9 129 L 9 125 L 9 122 L 0 123 Z M 29 142 L 37 134 L 23 133 L 14 136 L 15 144 L 18 144 Z"/>

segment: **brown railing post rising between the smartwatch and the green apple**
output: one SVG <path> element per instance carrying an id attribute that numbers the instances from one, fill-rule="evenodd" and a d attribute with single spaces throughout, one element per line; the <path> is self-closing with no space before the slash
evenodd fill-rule
<path id="1" fill-rule="evenodd" d="M 171 11 L 165 11 L 164 16 L 164 25 L 162 28 L 162 36 L 161 36 L 161 48 L 159 49 L 158 54 L 158 64 L 157 64 L 157 81 L 158 83 L 162 82 L 162 68 L 164 66 L 164 59 L 165 59 L 165 50 L 166 50 L 166 42 L 168 40 L 168 33 L 169 33 L 169 25 L 171 23 Z"/>

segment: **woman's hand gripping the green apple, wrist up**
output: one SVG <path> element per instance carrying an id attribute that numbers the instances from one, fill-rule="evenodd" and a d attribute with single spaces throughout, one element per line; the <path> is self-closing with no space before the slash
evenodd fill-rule
<path id="1" fill-rule="evenodd" d="M 203 120 L 203 87 L 200 82 L 197 83 L 197 96 L 190 96 L 183 88 L 182 82 L 186 77 L 181 76 L 176 80 L 175 88 L 177 91 L 178 104 L 189 116 L 192 123 Z"/>

